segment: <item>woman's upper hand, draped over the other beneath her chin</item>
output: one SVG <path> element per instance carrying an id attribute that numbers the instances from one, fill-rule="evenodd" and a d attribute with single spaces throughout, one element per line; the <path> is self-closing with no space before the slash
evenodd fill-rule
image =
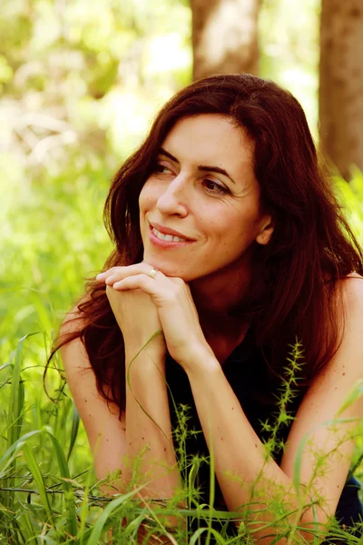
<path id="1" fill-rule="evenodd" d="M 149 276 L 151 271 L 152 265 L 142 262 L 129 267 L 113 267 L 97 278 L 106 282 L 108 286 L 113 286 L 113 293 L 122 294 L 122 298 L 127 293 L 131 294 L 130 304 L 134 292 L 141 291 L 144 298 L 152 299 L 162 324 L 168 351 L 182 367 L 192 365 L 197 355 L 200 357 L 205 352 L 213 354 L 201 330 L 198 312 L 188 284 L 181 278 L 165 276 L 161 271 L 152 278 Z M 113 301 L 115 300 L 116 296 L 113 296 Z M 111 301 L 110 303 L 113 306 L 114 303 Z M 141 304 L 132 311 L 132 315 L 136 321 L 142 321 L 145 312 L 147 311 Z M 123 324 L 121 322 L 119 324 L 123 329 Z"/>

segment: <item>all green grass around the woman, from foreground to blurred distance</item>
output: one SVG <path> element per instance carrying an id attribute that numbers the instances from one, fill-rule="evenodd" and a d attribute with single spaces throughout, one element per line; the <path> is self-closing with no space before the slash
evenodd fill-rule
<path id="1" fill-rule="evenodd" d="M 44 392 L 44 364 L 59 322 L 83 292 L 84 279 L 101 269 L 110 252 L 102 226 L 110 176 L 97 164 L 72 164 L 58 178 L 39 179 L 26 195 L 5 187 L 11 194 L 0 203 L 5 221 L 0 233 L 0 543 L 95 545 L 107 542 L 110 527 L 114 543 L 132 543 L 145 520 L 152 535 L 158 529 L 168 534 L 163 518 L 171 513 L 201 524 L 191 535 L 181 524 L 171 536 L 178 545 L 198 543 L 200 536 L 206 542 L 214 537 L 219 543 L 249 543 L 252 535 L 243 525 L 235 540 L 223 531 L 215 534 L 211 520 L 233 514 L 199 505 L 193 486 L 198 459 L 183 460 L 188 509 L 175 503 L 142 506 L 135 490 L 104 498 L 58 356 L 46 379 L 55 402 Z M 363 242 L 363 175 L 356 172 L 349 187 L 338 179 L 336 184 Z M 180 421 L 182 452 L 185 412 Z M 353 461 L 358 476 L 362 455 L 359 438 Z M 299 461 L 296 470 L 298 475 Z M 282 527 L 286 513 L 278 505 L 276 513 Z M 121 528 L 123 518 L 127 525 Z M 344 540 L 363 543 L 348 536 Z"/>

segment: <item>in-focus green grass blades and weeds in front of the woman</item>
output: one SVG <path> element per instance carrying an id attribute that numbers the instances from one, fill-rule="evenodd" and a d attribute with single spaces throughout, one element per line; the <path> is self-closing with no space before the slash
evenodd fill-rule
<path id="1" fill-rule="evenodd" d="M 3 382 L 3 387 L 5 384 L 10 386 L 10 393 L 2 391 L 2 406 L 7 407 L 8 414 L 12 414 L 13 421 L 9 418 L 7 428 L 10 432 L 7 438 L 3 438 L 7 450 L 0 460 L 0 542 L 2 542 L 3 536 L 5 542 L 11 544 L 32 542 L 101 544 L 107 542 L 107 532 L 113 528 L 114 545 L 123 545 L 130 542 L 136 543 L 136 535 L 141 526 L 145 533 L 145 543 L 151 536 L 156 542 L 158 536 L 167 536 L 172 543 L 177 545 L 199 543 L 201 536 L 205 538 L 205 543 L 209 543 L 213 539 L 222 545 L 232 543 L 247 545 L 247 543 L 253 542 L 253 535 L 257 531 L 253 529 L 253 522 L 250 522 L 248 527 L 241 523 L 240 530 L 235 537 L 226 533 L 227 522 L 233 519 L 240 520 L 240 512 L 233 513 L 213 509 L 211 507 L 212 491 L 210 505 L 202 505 L 198 500 L 192 475 L 200 461 L 194 457 L 186 457 L 185 451 L 183 451 L 185 437 L 190 433 L 186 426 L 186 407 L 179 408 L 180 426 L 176 430 L 177 439 L 181 438 L 178 450 L 179 458 L 185 470 L 183 471 L 182 490 L 173 500 L 155 500 L 146 502 L 145 505 L 141 505 L 140 500 L 137 500 L 137 493 L 142 490 L 143 484 L 135 488 L 131 483 L 130 491 L 120 494 L 114 499 L 109 499 L 103 498 L 99 491 L 101 485 L 107 484 L 107 480 L 97 483 L 93 474 L 88 471 L 77 474 L 77 466 L 84 470 L 91 464 L 89 453 L 85 458 L 83 457 L 81 437 L 78 437 L 76 441 L 70 464 L 67 463 L 65 452 L 68 448 L 69 436 L 66 436 L 64 440 L 62 428 L 66 426 L 69 431 L 67 414 L 69 414 L 68 409 L 71 402 L 65 393 L 56 402 L 55 411 L 53 411 L 50 421 L 47 418 L 47 411 L 44 411 L 41 421 L 38 422 L 39 429 L 34 430 L 34 423 L 24 420 L 19 430 L 19 415 L 22 412 L 26 415 L 28 411 L 31 411 L 32 404 L 36 403 L 36 400 L 26 395 L 25 388 L 25 402 L 21 405 L 18 404 L 18 411 L 14 413 L 12 412 L 12 391 L 24 380 L 27 359 L 26 342 L 29 344 L 35 339 L 34 336 L 19 342 L 17 352 L 11 362 L 17 371 L 11 375 L 11 381 Z M 287 379 L 280 392 L 280 414 L 270 427 L 272 438 L 277 437 L 280 426 L 284 425 L 285 419 L 281 416 L 285 413 L 283 400 L 289 402 L 293 396 L 291 386 L 296 383 L 296 374 L 291 370 L 299 373 L 301 356 L 301 347 L 297 343 L 292 347 L 287 367 Z M 0 372 L 4 374 L 8 367 L 8 365 L 3 366 Z M 39 391 L 38 397 L 43 396 L 44 393 Z M 355 399 L 355 396 L 353 397 Z M 51 404 L 52 402 L 48 400 L 47 405 L 50 407 Z M 11 431 L 12 427 L 15 428 L 15 435 Z M 25 432 L 29 429 L 32 431 Z M 81 434 L 83 434 L 83 430 Z M 347 438 L 345 437 L 344 440 Z M 270 452 L 270 446 L 267 443 L 267 452 Z M 133 461 L 135 468 L 139 462 L 138 459 Z M 298 490 L 299 463 L 298 457 L 295 469 L 295 484 Z M 210 464 L 211 482 L 213 482 L 212 451 Z M 324 465 L 324 461 L 321 461 L 321 465 Z M 137 480 L 137 472 L 134 471 L 133 474 Z M 114 478 L 114 476 L 110 476 L 110 485 L 112 485 Z M 259 479 L 256 484 L 258 481 Z M 283 493 L 285 494 L 286 490 L 283 490 Z M 307 494 L 305 494 L 305 497 L 301 498 L 299 512 L 302 513 L 303 510 L 306 510 L 311 501 L 313 500 L 307 498 Z M 183 508 L 180 507 L 182 502 L 185 504 Z M 260 512 L 260 510 L 256 510 L 253 498 L 250 504 L 243 506 L 243 508 L 244 520 L 248 520 L 252 514 L 254 517 Z M 290 543 L 300 543 L 298 524 L 291 526 L 288 520 L 289 514 L 292 512 L 289 510 L 289 505 L 272 500 L 271 504 L 268 503 L 268 509 L 275 513 L 275 519 L 266 522 L 265 529 L 271 528 L 272 531 L 276 531 L 278 528 L 280 536 L 289 536 Z M 179 527 L 169 529 L 165 525 L 164 520 L 171 515 L 178 517 L 181 521 Z M 124 521 L 123 525 L 122 520 Z M 188 531 L 182 524 L 183 520 L 198 520 L 199 529 Z M 221 524 L 221 530 L 216 530 L 215 521 Z M 319 535 L 318 526 L 314 531 Z M 344 542 L 352 544 L 358 542 L 358 538 L 352 537 L 337 525 L 333 524 L 330 532 L 332 536 L 340 538 Z"/>

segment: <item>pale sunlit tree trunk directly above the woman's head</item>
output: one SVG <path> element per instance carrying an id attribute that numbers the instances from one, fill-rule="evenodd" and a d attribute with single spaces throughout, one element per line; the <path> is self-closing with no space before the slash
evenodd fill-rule
<path id="1" fill-rule="evenodd" d="M 258 73 L 260 0 L 191 0 L 193 78 Z"/>

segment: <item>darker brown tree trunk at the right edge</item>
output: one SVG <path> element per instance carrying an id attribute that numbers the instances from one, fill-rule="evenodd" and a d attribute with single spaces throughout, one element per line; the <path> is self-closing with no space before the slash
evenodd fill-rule
<path id="1" fill-rule="evenodd" d="M 323 153 L 347 180 L 363 170 L 363 2 L 322 0 L 319 132 Z"/>

